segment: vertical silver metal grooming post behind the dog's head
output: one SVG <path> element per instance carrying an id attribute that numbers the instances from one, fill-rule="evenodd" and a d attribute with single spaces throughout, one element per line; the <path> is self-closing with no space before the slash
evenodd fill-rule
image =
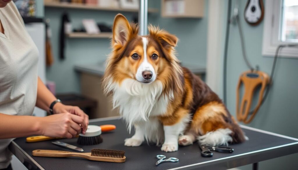
<path id="1" fill-rule="evenodd" d="M 148 0 L 140 0 L 139 26 L 140 35 L 147 35 Z"/>

